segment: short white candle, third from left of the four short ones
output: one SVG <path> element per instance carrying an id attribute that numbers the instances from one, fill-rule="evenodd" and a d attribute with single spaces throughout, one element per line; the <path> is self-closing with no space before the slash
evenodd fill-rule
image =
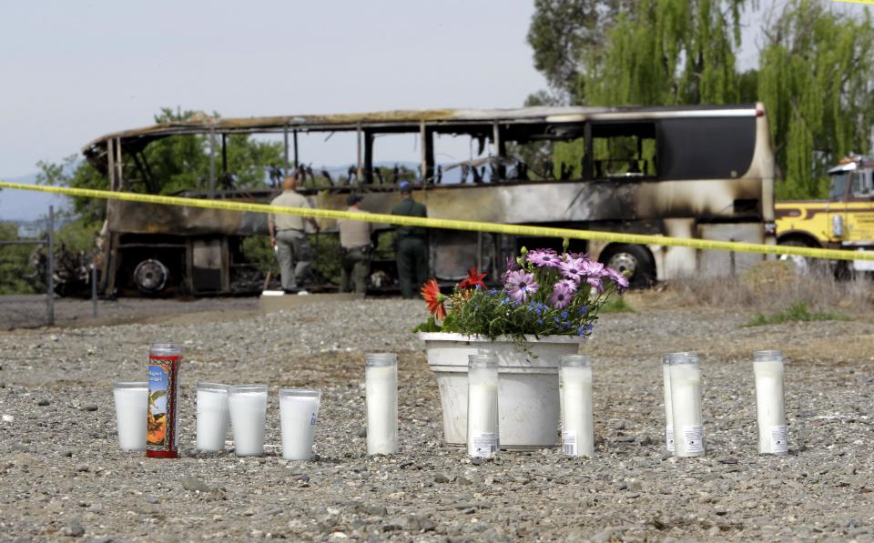
<path id="1" fill-rule="evenodd" d="M 228 407 L 237 456 L 257 457 L 264 454 L 267 385 L 229 387 Z"/>

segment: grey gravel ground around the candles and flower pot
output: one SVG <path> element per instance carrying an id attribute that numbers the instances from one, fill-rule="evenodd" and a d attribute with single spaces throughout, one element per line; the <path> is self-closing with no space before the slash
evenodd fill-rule
<path id="1" fill-rule="evenodd" d="M 874 320 L 745 328 L 728 310 L 606 315 L 596 457 L 441 443 L 437 387 L 408 332 L 421 302 L 331 302 L 269 315 L 0 334 L 0 539 L 874 540 Z M 185 346 L 183 458 L 117 449 L 111 383 L 147 344 Z M 790 454 L 757 455 L 750 353 L 783 348 Z M 702 355 L 709 451 L 663 453 L 661 355 Z M 367 458 L 363 354 L 399 353 L 401 452 Z M 198 455 L 200 380 L 271 385 L 262 458 Z M 321 387 L 318 458 L 279 456 L 276 387 Z"/>

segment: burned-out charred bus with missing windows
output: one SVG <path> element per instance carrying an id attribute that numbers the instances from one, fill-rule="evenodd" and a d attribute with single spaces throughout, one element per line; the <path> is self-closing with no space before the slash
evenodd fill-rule
<path id="1" fill-rule="evenodd" d="M 100 137 L 83 152 L 113 191 L 147 192 L 144 149 L 170 136 L 207 136 L 209 178 L 179 196 L 267 203 L 278 188 L 222 186 L 226 137 L 269 135 L 284 146 L 284 164 L 306 164 L 300 136 L 347 135 L 347 176 L 304 183 L 314 207 L 344 209 L 352 192 L 364 208 L 389 213 L 398 201 L 398 166 L 374 156 L 384 136 L 415 146 L 414 196 L 431 217 L 584 228 L 605 232 L 774 242 L 774 157 L 761 104 L 683 107 L 526 107 L 445 109 L 325 116 L 197 118 Z M 265 136 L 268 137 L 268 136 Z M 470 153 L 445 159 L 446 138 L 464 138 Z M 219 140 L 221 144 L 219 145 Z M 154 180 L 152 180 L 154 181 Z M 323 220 L 322 232 L 336 232 Z M 391 231 L 389 226 L 382 226 Z M 107 295 L 187 293 L 228 295 L 259 289 L 259 276 L 240 247 L 267 236 L 267 217 L 181 206 L 107 202 L 101 233 L 101 288 Z M 720 276 L 763 256 L 676 246 L 574 242 L 637 286 L 693 274 Z M 454 281 L 477 265 L 497 279 L 505 257 L 520 246 L 560 240 L 432 230 L 434 277 Z M 392 286 L 391 255 L 378 256 L 376 281 Z M 263 278 L 263 277 L 260 277 Z"/>

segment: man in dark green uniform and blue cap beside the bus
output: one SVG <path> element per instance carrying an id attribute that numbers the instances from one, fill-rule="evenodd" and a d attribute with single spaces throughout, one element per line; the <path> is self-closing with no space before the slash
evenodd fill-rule
<path id="1" fill-rule="evenodd" d="M 428 216 L 428 208 L 412 199 L 412 186 L 401 181 L 399 187 L 403 200 L 391 208 L 391 215 Z M 412 298 L 428 279 L 428 231 L 422 226 L 398 226 L 395 253 L 401 296 Z"/>

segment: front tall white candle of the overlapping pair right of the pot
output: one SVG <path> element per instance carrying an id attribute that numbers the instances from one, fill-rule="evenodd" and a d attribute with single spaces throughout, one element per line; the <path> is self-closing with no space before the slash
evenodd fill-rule
<path id="1" fill-rule="evenodd" d="M 705 453 L 701 417 L 701 372 L 696 353 L 672 353 L 671 410 L 674 414 L 674 454 L 700 457 Z"/>

